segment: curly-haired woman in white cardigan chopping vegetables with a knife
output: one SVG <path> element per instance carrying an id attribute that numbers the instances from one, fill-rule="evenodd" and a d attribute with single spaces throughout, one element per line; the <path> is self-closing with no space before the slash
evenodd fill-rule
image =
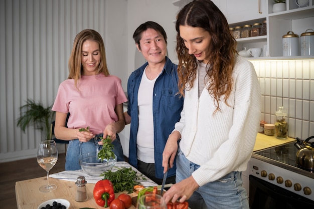
<path id="1" fill-rule="evenodd" d="M 209 0 L 186 5 L 176 30 L 184 107 L 163 153 L 164 167 L 177 156 L 177 183 L 166 201 L 188 199 L 192 209 L 249 208 L 241 171 L 260 121 L 254 67 L 236 53 L 226 18 Z"/>

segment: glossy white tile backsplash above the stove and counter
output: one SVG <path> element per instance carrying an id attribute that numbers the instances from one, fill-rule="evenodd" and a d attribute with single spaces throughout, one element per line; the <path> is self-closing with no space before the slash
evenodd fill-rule
<path id="1" fill-rule="evenodd" d="M 314 60 L 251 61 L 261 87 L 261 120 L 274 123 L 275 112 L 288 112 L 289 137 L 314 135 Z"/>

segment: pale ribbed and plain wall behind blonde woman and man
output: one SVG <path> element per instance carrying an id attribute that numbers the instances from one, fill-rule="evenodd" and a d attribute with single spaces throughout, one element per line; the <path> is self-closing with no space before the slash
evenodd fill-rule
<path id="1" fill-rule="evenodd" d="M 19 108 L 28 98 L 53 104 L 78 32 L 102 35 L 110 74 L 126 91 L 135 69 L 134 30 L 145 21 L 161 24 L 175 60 L 176 12 L 169 0 L 0 0 L 0 162 L 36 156 L 41 134 L 17 127 Z"/>

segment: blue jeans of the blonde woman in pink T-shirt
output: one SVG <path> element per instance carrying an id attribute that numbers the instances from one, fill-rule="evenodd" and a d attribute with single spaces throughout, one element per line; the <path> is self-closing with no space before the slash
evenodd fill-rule
<path id="1" fill-rule="evenodd" d="M 78 139 L 69 141 L 67 153 L 65 156 L 65 170 L 79 170 L 81 169 L 79 163 L 79 156 L 89 152 L 97 153 L 97 150 L 101 149 L 102 146 L 97 142 L 100 141 L 100 136 L 103 134 L 98 134 L 88 142 L 80 142 Z M 120 143 L 120 138 L 117 134 L 117 138 L 112 142 L 113 152 L 117 155 L 117 161 L 124 161 L 124 155 L 122 146 Z"/>

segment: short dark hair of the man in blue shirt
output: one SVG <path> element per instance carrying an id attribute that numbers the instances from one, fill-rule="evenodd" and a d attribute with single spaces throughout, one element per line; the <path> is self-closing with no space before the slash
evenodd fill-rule
<path id="1" fill-rule="evenodd" d="M 147 31 L 147 29 L 153 29 L 156 32 L 159 32 L 165 39 L 166 45 L 167 45 L 167 34 L 164 30 L 164 28 L 159 25 L 158 23 L 152 22 L 152 21 L 147 21 L 146 23 L 141 24 L 140 26 L 137 27 L 137 29 L 134 31 L 133 34 L 133 39 L 135 41 L 135 44 L 138 45 L 138 48 L 140 49 L 140 44 L 139 41 L 142 38 L 142 33 L 144 31 Z"/>

